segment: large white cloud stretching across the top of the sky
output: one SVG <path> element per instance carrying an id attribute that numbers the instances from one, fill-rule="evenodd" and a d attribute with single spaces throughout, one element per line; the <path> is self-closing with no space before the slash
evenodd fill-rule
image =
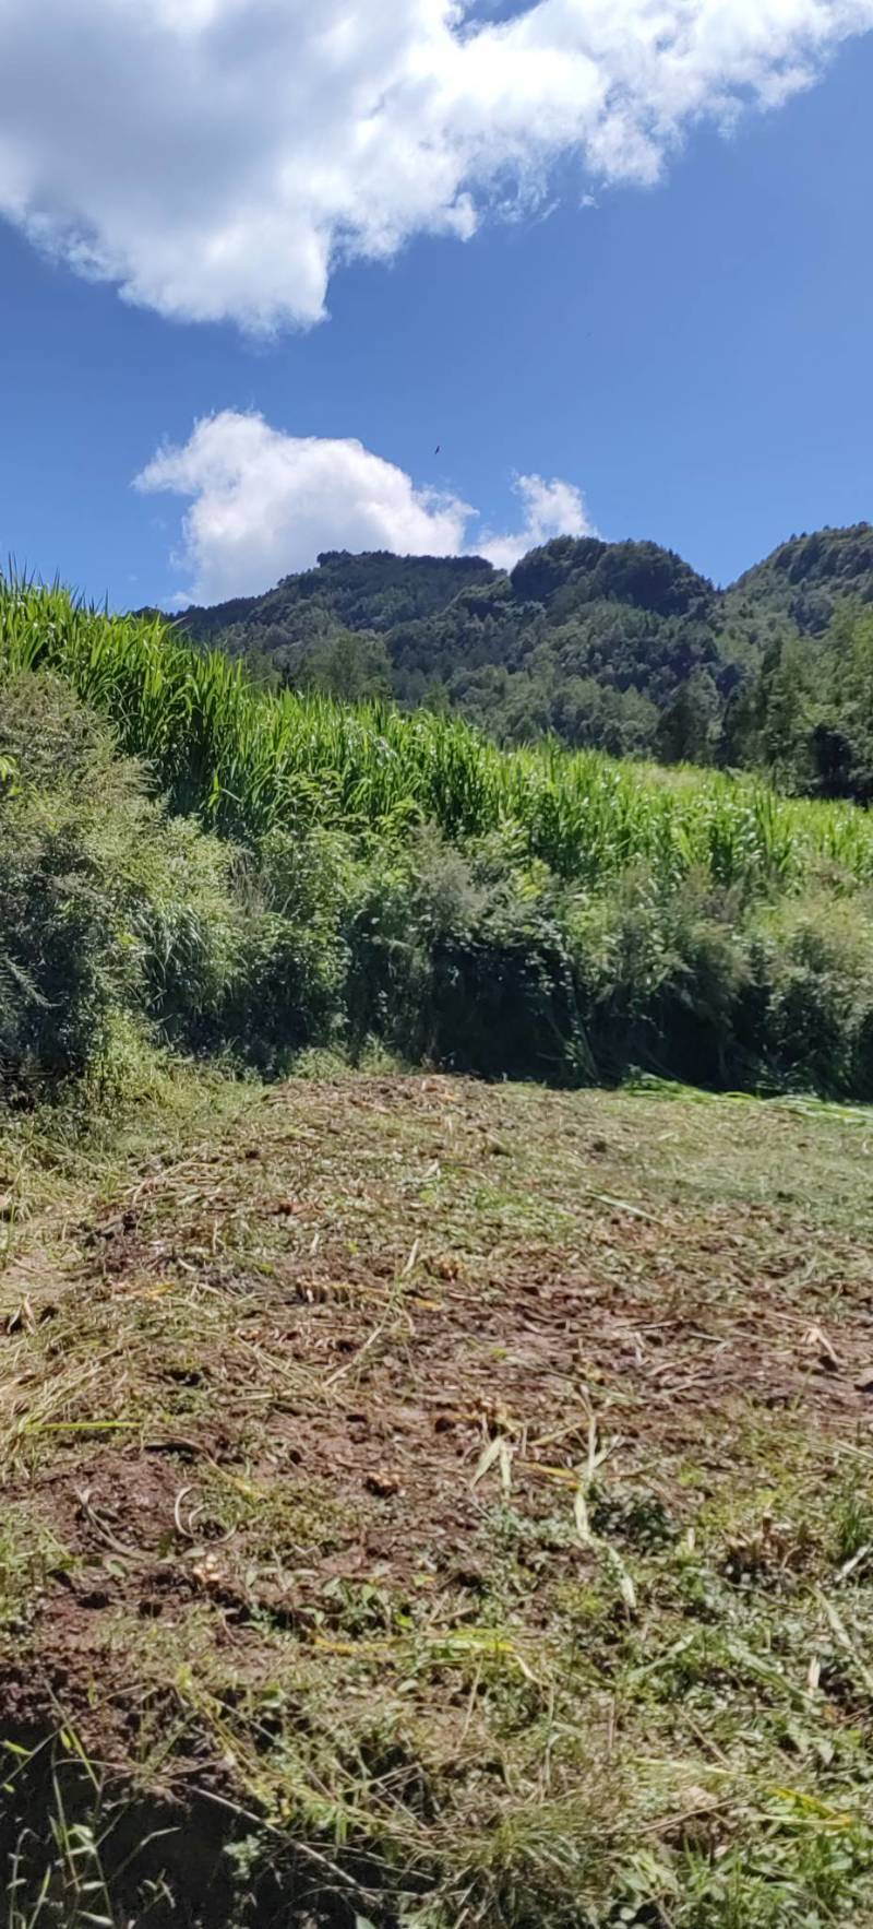
<path id="1" fill-rule="evenodd" d="M 310 324 L 331 266 L 470 235 L 576 154 L 653 181 L 873 0 L 0 0 L 0 214 L 187 320 Z"/>

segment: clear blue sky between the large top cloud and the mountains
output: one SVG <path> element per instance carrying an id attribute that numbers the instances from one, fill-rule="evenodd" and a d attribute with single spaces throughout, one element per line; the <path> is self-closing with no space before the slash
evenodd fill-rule
<path id="1" fill-rule="evenodd" d="M 0 220 L 4 552 L 135 606 L 266 588 L 306 546 L 355 532 L 355 517 L 335 525 L 322 463 L 314 492 L 314 471 L 299 473 L 293 540 L 279 519 L 243 556 L 243 532 L 222 575 L 210 525 L 200 554 L 189 534 L 179 556 L 185 498 L 131 484 L 214 411 L 258 411 L 278 432 L 270 475 L 281 436 L 358 438 L 412 490 L 441 494 L 445 546 L 515 530 L 516 475 L 561 478 L 605 536 L 651 536 L 719 581 L 792 530 L 869 517 L 871 100 L 867 33 L 730 137 L 692 127 L 659 183 L 597 185 L 559 152 L 540 204 L 486 212 L 466 241 L 412 224 L 389 260 L 333 274 L 330 318 L 266 338 L 235 314 L 131 305 Z M 270 490 L 264 449 L 258 463 Z M 214 507 L 214 473 L 191 473 L 177 465 L 175 482 Z M 247 486 L 237 476 L 237 496 Z M 249 523 L 270 523 L 272 498 L 258 502 Z"/>

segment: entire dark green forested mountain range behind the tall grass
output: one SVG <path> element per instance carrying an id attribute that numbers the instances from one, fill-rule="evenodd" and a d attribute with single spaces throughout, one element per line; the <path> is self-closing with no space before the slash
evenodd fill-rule
<path id="1" fill-rule="evenodd" d="M 717 590 L 653 542 L 482 557 L 331 552 L 266 596 L 183 611 L 268 687 L 459 712 L 497 743 L 761 768 L 873 795 L 873 527 L 784 542 Z"/>

